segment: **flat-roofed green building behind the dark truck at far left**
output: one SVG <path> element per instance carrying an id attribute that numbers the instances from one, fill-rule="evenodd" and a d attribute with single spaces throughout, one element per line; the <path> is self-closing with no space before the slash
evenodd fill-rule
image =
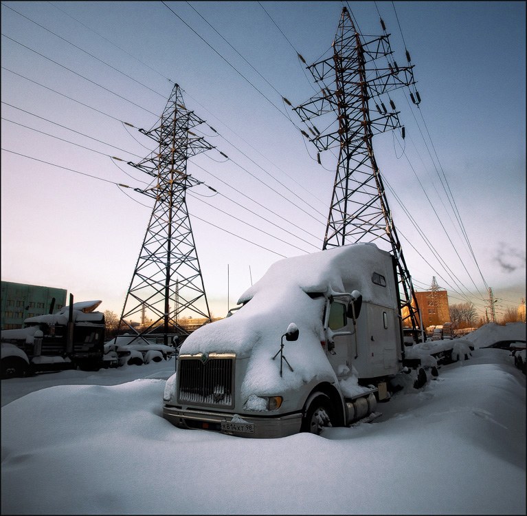
<path id="1" fill-rule="evenodd" d="M 55 298 L 53 313 L 66 304 L 67 290 L 41 287 L 25 283 L 1 282 L 0 327 L 2 330 L 21 328 L 27 317 L 49 314 L 52 299 Z"/>

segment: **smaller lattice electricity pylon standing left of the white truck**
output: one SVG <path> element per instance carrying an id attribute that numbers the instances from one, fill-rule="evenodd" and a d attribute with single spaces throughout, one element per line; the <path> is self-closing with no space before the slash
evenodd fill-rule
<path id="1" fill-rule="evenodd" d="M 191 131 L 202 122 L 185 107 L 176 84 L 159 125 L 150 131 L 139 129 L 155 140 L 157 150 L 139 163 L 128 162 L 153 177 L 150 187 L 135 191 L 155 200 L 120 319 L 120 328 L 133 330 L 135 338 L 159 334 L 162 328 L 166 345 L 170 334 L 188 334 L 177 322 L 184 310 L 210 321 L 186 204 L 187 189 L 201 184 L 187 173 L 187 161 L 213 149 Z M 152 321 L 137 332 L 129 320 L 145 308 Z"/>

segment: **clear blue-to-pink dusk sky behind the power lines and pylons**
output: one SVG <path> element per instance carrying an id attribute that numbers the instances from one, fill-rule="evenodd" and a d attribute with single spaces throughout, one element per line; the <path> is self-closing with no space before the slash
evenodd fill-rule
<path id="1" fill-rule="evenodd" d="M 190 160 L 204 184 L 187 195 L 212 314 L 225 316 L 274 261 L 322 248 L 335 158 L 317 163 L 281 97 L 297 106 L 315 93 L 297 52 L 308 64 L 329 55 L 342 6 L 3 2 L 1 279 L 65 288 L 120 314 L 152 202 L 115 183 L 144 186 L 125 162 L 153 150 L 137 128 L 155 125 L 174 82 L 216 147 Z M 526 297 L 525 3 L 350 8 L 363 34 L 381 34 L 380 13 L 396 59 L 406 47 L 415 65 L 419 109 L 403 90 L 392 95 L 405 142 L 395 131 L 374 138 L 414 287 L 436 276 L 450 303 L 471 300 L 480 313 L 491 287 L 498 315 L 517 308 Z"/>

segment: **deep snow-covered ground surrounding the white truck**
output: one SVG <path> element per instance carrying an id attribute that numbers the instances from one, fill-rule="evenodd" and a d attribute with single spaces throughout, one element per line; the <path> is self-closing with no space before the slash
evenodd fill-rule
<path id="1" fill-rule="evenodd" d="M 173 427 L 173 360 L 1 380 L 1 513 L 525 514 L 526 377 L 481 349 L 525 324 L 478 332 L 468 361 L 322 436 Z"/>

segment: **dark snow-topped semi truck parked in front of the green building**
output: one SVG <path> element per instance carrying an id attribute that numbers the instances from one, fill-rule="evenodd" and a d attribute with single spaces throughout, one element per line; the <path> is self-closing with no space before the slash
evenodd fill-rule
<path id="1" fill-rule="evenodd" d="M 94 311 L 100 303 L 73 303 L 70 297 L 70 305 L 56 314 L 29 317 L 19 330 L 2 330 L 1 377 L 117 366 L 117 354 L 104 353 L 104 314 Z"/>

